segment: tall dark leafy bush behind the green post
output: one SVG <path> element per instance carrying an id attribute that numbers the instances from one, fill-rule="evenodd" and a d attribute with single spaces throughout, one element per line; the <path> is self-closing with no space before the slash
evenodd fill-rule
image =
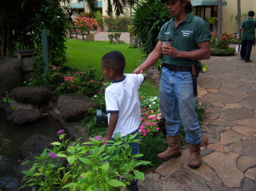
<path id="1" fill-rule="evenodd" d="M 49 1 L 48 5 L 40 5 L 40 11 L 35 14 L 34 41 L 38 49 L 42 49 L 42 29 L 49 30 L 48 50 L 49 65 L 63 66 L 67 62 L 65 56 L 65 41 L 68 21 L 59 1 Z"/>

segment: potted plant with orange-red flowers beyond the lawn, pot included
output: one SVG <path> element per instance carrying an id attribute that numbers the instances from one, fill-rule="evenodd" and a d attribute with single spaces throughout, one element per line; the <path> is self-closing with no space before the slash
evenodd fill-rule
<path id="1" fill-rule="evenodd" d="M 94 31 L 94 27 L 97 26 L 96 19 L 77 16 L 74 24 L 82 35 L 86 34 L 87 41 L 94 41 L 94 33 L 90 31 Z"/>

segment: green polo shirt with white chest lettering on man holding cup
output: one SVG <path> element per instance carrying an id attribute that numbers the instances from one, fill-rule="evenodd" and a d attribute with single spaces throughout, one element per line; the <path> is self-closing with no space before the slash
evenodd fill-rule
<path id="1" fill-rule="evenodd" d="M 172 47 L 183 52 L 191 52 L 199 49 L 198 43 L 210 41 L 210 27 L 203 19 L 188 13 L 186 18 L 175 28 L 174 18 L 165 23 L 160 29 L 158 40 L 171 39 Z M 198 63 L 195 60 L 185 58 L 172 58 L 163 54 L 163 63 L 177 66 L 191 66 Z"/>

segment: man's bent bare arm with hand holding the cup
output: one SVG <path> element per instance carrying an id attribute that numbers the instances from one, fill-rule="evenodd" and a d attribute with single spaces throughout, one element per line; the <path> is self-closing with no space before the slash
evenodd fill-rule
<path id="1" fill-rule="evenodd" d="M 163 54 L 173 58 L 186 58 L 188 60 L 204 60 L 210 58 L 210 41 L 204 41 L 197 44 L 199 49 L 191 52 L 179 51 L 174 47 L 164 47 Z"/>

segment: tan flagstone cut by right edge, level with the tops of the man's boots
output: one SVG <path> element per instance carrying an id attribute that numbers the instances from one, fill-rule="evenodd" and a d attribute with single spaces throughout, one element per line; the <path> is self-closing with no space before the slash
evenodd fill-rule
<path id="1" fill-rule="evenodd" d="M 256 142 L 255 141 L 249 141 L 244 140 L 244 141 L 239 141 L 232 143 L 229 146 L 230 151 L 237 152 L 241 155 L 247 155 L 247 156 L 252 156 L 256 158 Z"/>

